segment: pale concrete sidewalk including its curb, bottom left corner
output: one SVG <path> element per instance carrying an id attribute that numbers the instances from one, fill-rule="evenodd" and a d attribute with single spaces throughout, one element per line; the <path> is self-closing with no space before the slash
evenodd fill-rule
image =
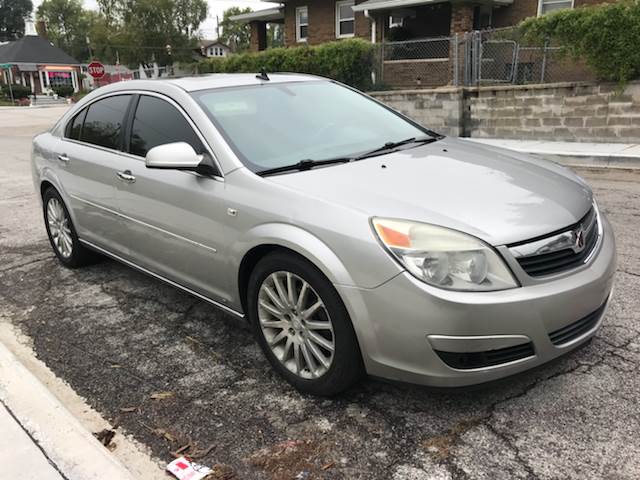
<path id="1" fill-rule="evenodd" d="M 125 467 L 1 341 L 0 432 L 2 480 L 164 477 L 153 465 L 145 474 L 140 463 Z M 118 448 L 125 443 L 119 438 Z"/>

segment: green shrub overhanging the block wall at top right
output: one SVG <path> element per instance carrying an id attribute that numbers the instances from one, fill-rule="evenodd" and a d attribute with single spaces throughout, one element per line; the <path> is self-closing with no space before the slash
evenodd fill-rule
<path id="1" fill-rule="evenodd" d="M 565 53 L 583 58 L 598 76 L 621 84 L 640 77 L 640 3 L 560 10 L 520 24 L 525 38 L 550 40 Z"/>

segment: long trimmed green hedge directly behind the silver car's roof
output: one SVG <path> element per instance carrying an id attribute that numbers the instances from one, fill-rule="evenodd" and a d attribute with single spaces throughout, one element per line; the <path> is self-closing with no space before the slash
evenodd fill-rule
<path id="1" fill-rule="evenodd" d="M 354 38 L 318 46 L 271 48 L 211 58 L 191 65 L 198 73 L 269 72 L 310 73 L 332 78 L 361 90 L 371 87 L 373 46 Z"/>

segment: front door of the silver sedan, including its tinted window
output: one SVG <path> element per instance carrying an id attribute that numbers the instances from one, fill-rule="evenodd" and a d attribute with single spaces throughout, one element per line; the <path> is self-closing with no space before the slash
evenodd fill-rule
<path id="1" fill-rule="evenodd" d="M 212 155 L 186 113 L 171 99 L 140 95 L 127 139 L 133 183 L 118 184 L 132 261 L 209 298 L 228 297 L 224 275 L 224 182 L 195 172 L 150 169 L 147 152 L 186 142 Z"/>

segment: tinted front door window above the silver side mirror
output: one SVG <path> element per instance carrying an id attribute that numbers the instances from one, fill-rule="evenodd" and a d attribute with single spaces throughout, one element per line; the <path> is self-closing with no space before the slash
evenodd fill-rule
<path id="1" fill-rule="evenodd" d="M 173 142 L 186 142 L 196 153 L 205 151 L 196 132 L 173 105 L 157 97 L 140 96 L 131 126 L 131 153 L 144 157 L 153 147 Z"/>

